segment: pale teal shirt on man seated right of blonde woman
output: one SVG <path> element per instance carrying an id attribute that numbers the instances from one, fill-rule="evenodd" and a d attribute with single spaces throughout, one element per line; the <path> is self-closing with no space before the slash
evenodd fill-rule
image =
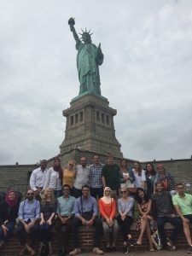
<path id="1" fill-rule="evenodd" d="M 61 216 L 72 216 L 73 207 L 76 199 L 69 195 L 67 198 L 63 195 L 57 198 L 57 210 L 56 213 L 60 213 Z"/>

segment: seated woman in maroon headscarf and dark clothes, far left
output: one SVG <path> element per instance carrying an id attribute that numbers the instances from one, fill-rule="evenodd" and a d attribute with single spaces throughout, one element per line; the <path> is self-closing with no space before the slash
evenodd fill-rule
<path id="1" fill-rule="evenodd" d="M 9 191 L 0 205 L 0 247 L 15 227 L 19 203 L 14 191 Z"/>

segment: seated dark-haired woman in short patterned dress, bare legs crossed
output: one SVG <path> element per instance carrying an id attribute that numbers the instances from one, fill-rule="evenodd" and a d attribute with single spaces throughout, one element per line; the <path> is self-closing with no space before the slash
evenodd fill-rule
<path id="1" fill-rule="evenodd" d="M 151 217 L 151 200 L 142 188 L 137 189 L 137 207 L 140 216 L 137 218 L 137 230 L 140 230 L 140 236 L 137 239 L 137 245 L 143 242 L 143 235 L 146 231 L 149 243 L 149 251 L 154 252 L 153 243 L 151 240 L 150 222 L 153 221 Z"/>

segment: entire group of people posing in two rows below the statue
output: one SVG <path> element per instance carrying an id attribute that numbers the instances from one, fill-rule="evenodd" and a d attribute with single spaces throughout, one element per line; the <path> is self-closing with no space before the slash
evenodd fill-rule
<path id="1" fill-rule="evenodd" d="M 120 194 L 120 195 L 119 195 Z M 131 236 L 137 202 L 137 240 Z M 133 168 L 128 161 L 114 164 L 108 156 L 106 165 L 101 164 L 99 155 L 93 155 L 93 164 L 88 166 L 86 157 L 79 165 L 68 161 L 67 168 L 61 168 L 61 160 L 55 158 L 54 166 L 47 169 L 46 160 L 32 172 L 30 189 L 26 199 L 17 201 L 14 191 L 9 191 L 0 206 L 0 247 L 8 239 L 18 219 L 17 234 L 20 253 L 28 251 L 34 255 L 33 243 L 40 240 L 39 253 L 53 253 L 52 228 L 59 243 L 59 255 L 81 253 L 79 226 L 96 228 L 93 253 L 102 254 L 100 238 L 106 240 L 106 251 L 116 251 L 119 227 L 123 239 L 123 253 L 129 247 L 143 243 L 146 233 L 149 251 L 154 252 L 151 228 L 154 220 L 160 234 L 162 248 L 175 250 L 178 233 L 183 229 L 189 244 L 187 253 L 192 253 L 189 223 L 192 223 L 192 195 L 184 193 L 183 183 L 175 183 L 170 172 L 162 164 L 148 163 L 145 169 L 139 162 Z M 174 228 L 168 238 L 164 229 L 166 222 Z M 65 230 L 63 230 L 65 227 Z M 69 234 L 73 233 L 73 251 L 67 252 Z M 28 235 L 28 238 L 26 236 Z"/>

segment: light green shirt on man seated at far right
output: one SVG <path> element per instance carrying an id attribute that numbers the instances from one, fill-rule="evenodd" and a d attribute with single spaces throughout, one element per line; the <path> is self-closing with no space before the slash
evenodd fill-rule
<path id="1" fill-rule="evenodd" d="M 183 215 L 192 214 L 192 195 L 184 194 L 184 197 L 174 195 L 172 197 L 174 206 L 178 206 Z"/>

